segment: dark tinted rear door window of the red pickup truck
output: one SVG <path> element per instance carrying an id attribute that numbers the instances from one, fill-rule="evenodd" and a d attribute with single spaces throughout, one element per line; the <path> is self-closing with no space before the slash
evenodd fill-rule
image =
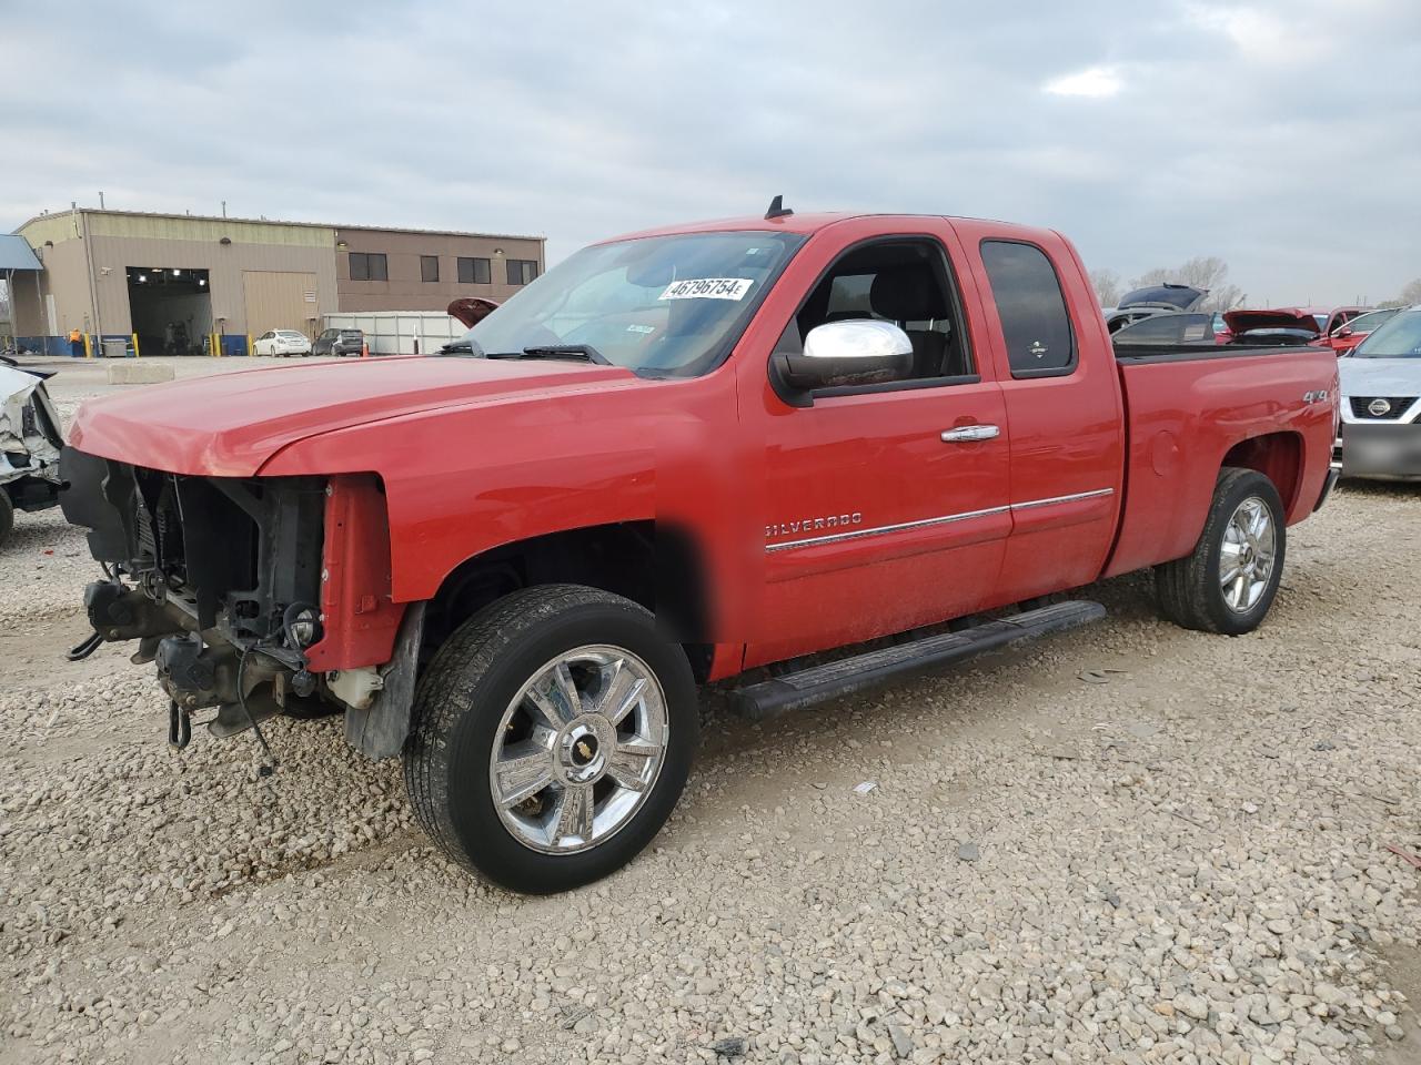
<path id="1" fill-rule="evenodd" d="M 1034 244 L 982 241 L 1013 378 L 1063 376 L 1076 369 L 1076 337 L 1056 268 Z"/>

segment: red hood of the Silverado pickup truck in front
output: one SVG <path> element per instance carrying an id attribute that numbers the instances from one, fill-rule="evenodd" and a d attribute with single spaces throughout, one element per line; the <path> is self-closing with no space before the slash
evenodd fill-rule
<path id="1" fill-rule="evenodd" d="M 280 366 L 148 385 L 80 408 L 70 443 L 171 473 L 250 477 L 297 440 L 422 410 L 617 388 L 621 366 L 409 358 Z"/>

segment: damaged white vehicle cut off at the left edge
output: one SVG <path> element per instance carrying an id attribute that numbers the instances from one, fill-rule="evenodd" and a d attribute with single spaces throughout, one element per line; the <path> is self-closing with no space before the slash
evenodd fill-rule
<path id="1" fill-rule="evenodd" d="M 50 373 L 0 358 L 0 544 L 17 510 L 45 510 L 60 501 L 60 415 L 44 390 Z"/>

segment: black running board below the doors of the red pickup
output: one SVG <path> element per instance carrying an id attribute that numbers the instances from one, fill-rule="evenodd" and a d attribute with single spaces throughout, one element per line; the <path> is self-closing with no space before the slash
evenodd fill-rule
<path id="1" fill-rule="evenodd" d="M 863 692 L 902 677 L 926 673 L 942 666 L 999 650 L 1022 640 L 1064 632 L 1106 616 L 1106 608 L 1087 599 L 1042 606 L 1010 618 L 983 622 L 962 632 L 925 636 L 912 643 L 870 650 L 864 655 L 784 673 L 732 694 L 736 711 L 752 721 L 820 703 L 826 699 Z"/>

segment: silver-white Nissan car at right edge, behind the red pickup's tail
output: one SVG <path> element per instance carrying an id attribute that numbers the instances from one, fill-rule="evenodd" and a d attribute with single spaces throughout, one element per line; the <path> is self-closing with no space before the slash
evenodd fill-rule
<path id="1" fill-rule="evenodd" d="M 1337 361 L 1343 477 L 1421 480 L 1421 307 L 1378 325 Z"/>

